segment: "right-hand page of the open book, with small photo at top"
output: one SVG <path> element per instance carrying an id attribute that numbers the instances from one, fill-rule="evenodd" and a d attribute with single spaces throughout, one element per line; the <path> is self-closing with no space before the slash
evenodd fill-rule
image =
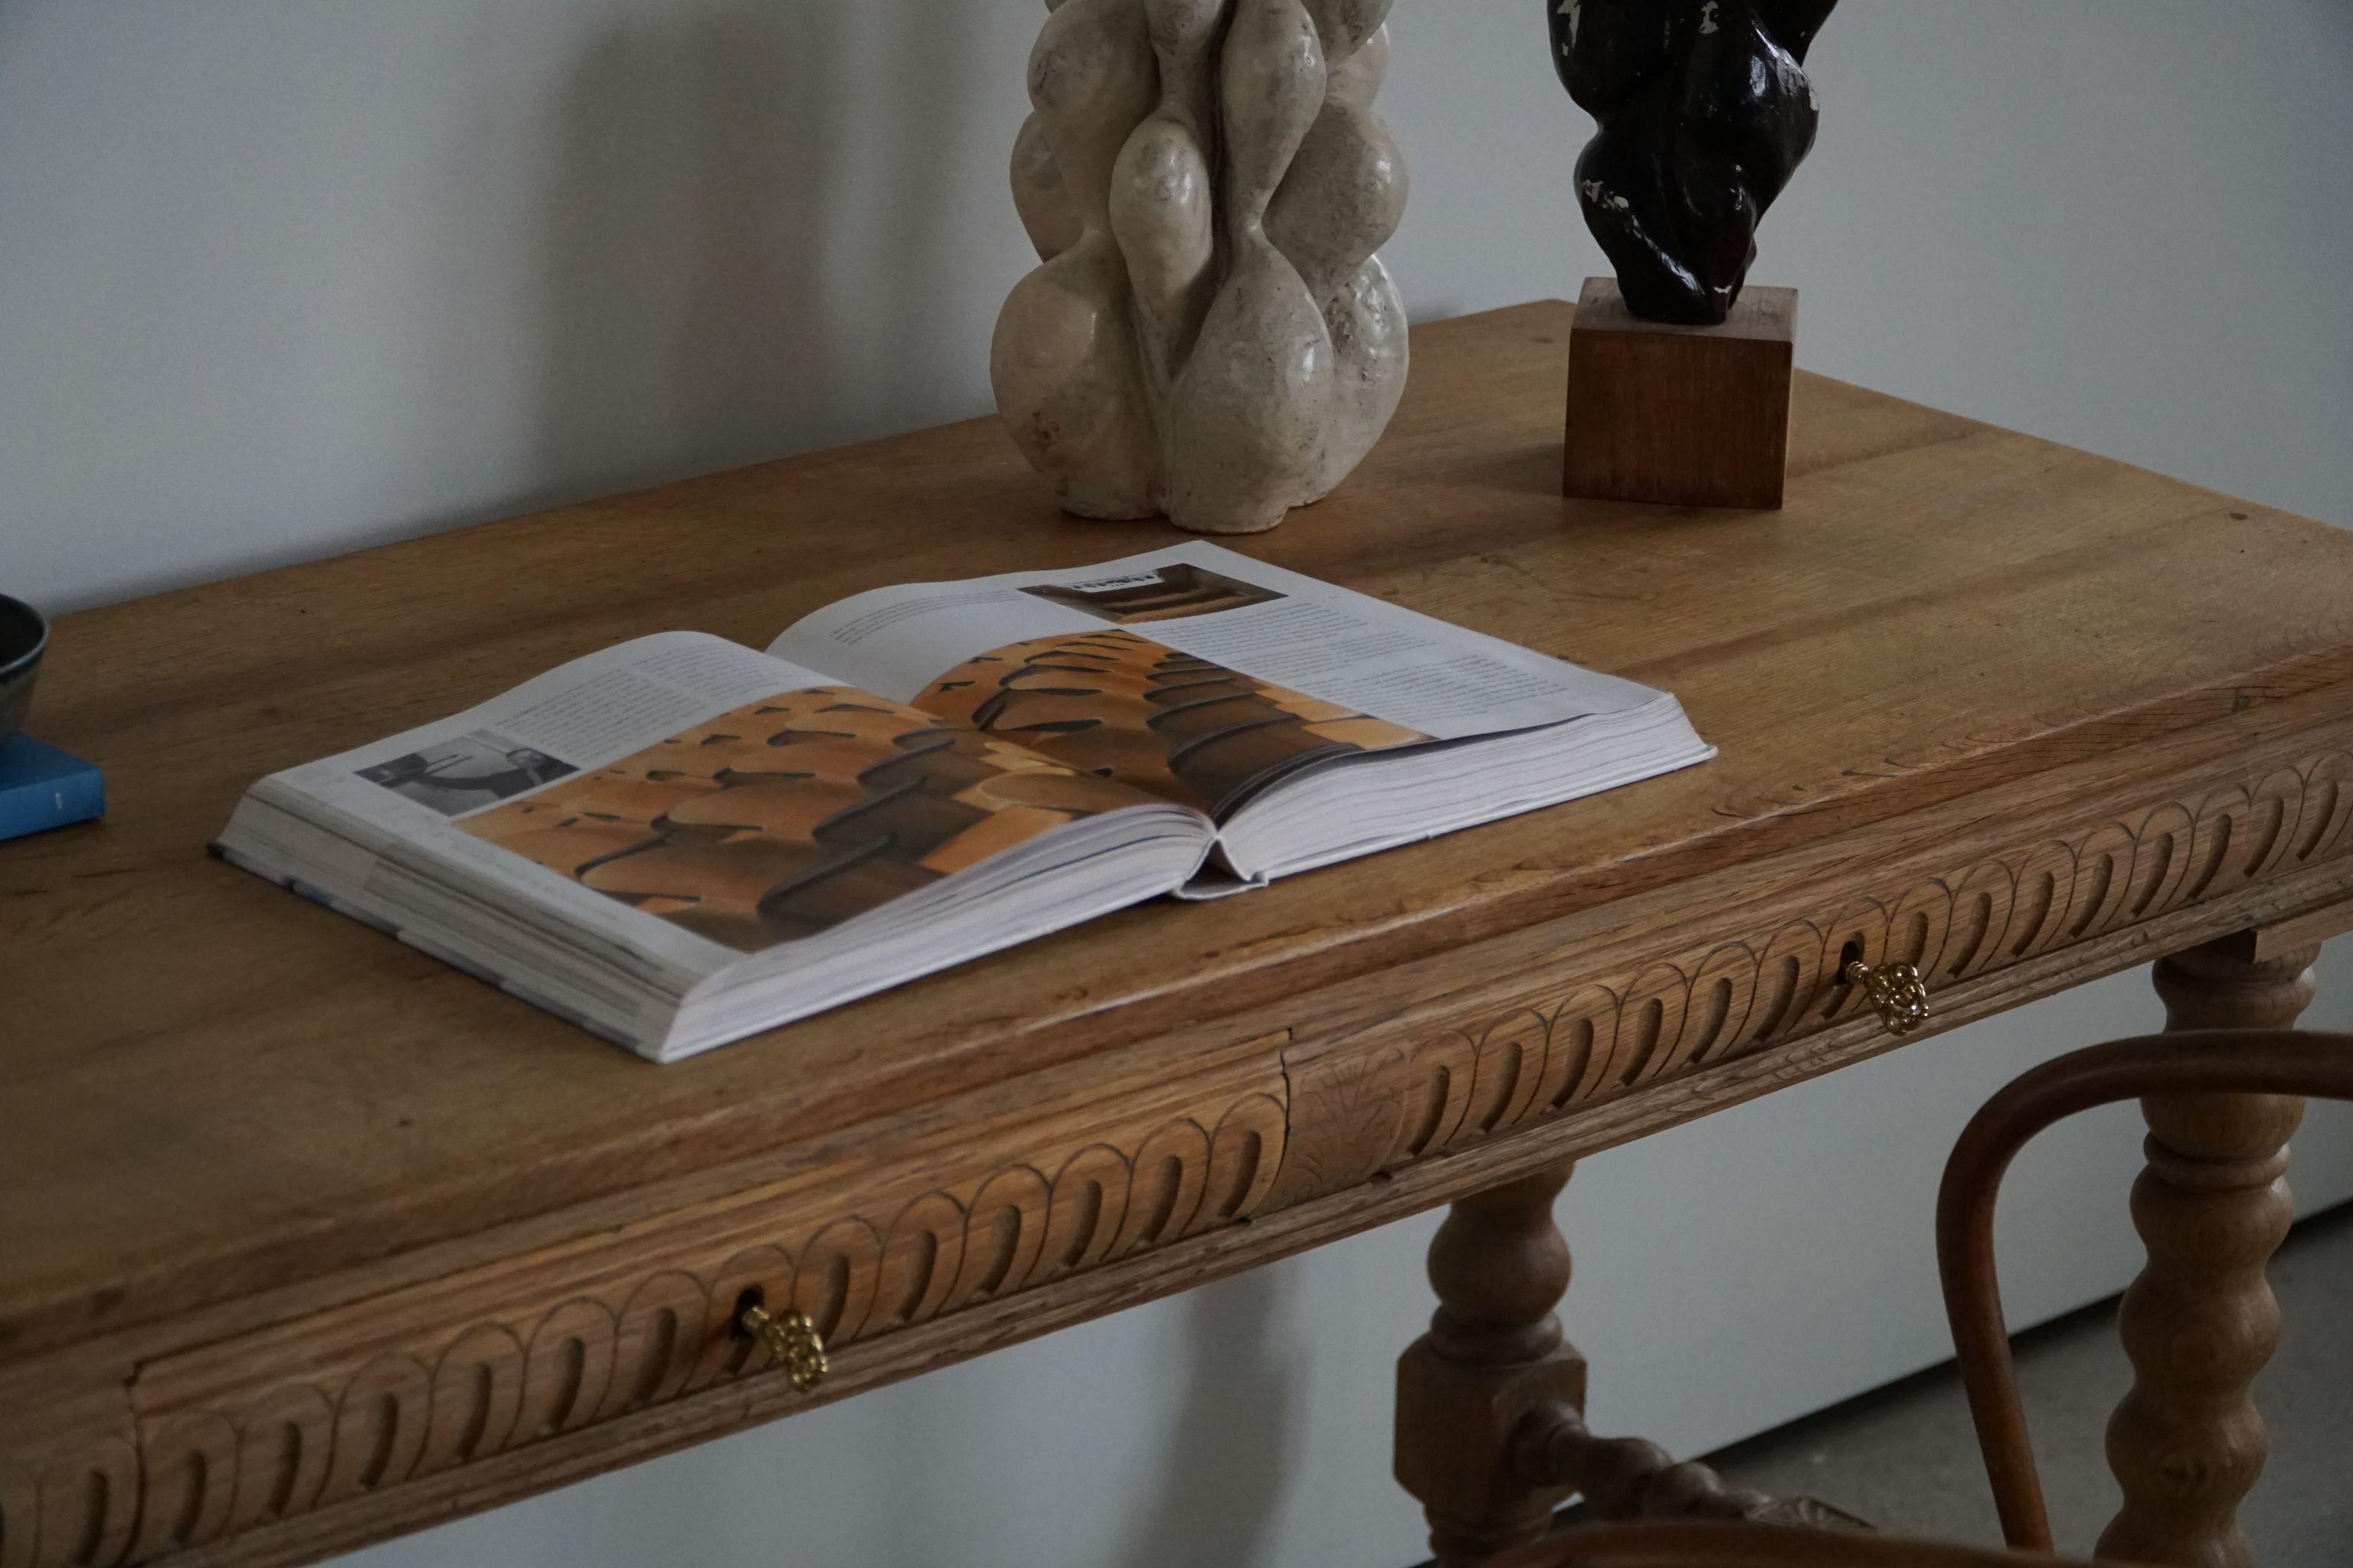
<path id="1" fill-rule="evenodd" d="M 1304 766 L 1659 698 L 1209 543 L 882 588 L 769 651 L 1212 813 Z"/>

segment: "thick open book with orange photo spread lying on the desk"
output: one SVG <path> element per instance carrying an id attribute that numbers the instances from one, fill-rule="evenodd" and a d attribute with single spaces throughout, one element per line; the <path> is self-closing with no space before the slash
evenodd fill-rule
<path id="1" fill-rule="evenodd" d="M 1713 755 L 1664 691 L 1188 543 L 626 642 L 264 778 L 216 849 L 675 1060 Z"/>

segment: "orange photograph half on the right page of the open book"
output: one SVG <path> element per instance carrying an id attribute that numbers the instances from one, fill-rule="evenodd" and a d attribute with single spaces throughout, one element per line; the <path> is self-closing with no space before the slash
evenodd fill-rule
<path id="1" fill-rule="evenodd" d="M 1428 741 L 1108 628 L 969 658 L 915 705 L 1212 813 L 1304 766 Z"/>

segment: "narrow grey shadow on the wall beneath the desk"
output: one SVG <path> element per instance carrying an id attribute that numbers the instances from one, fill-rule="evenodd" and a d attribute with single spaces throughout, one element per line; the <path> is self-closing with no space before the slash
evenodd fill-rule
<path id="1" fill-rule="evenodd" d="M 1122 1568 L 1273 1568 L 1282 1497 L 1297 1469 L 1299 1356 L 1280 1328 L 1280 1269 L 1186 1298 L 1184 1394 L 1167 1427 L 1160 1486 L 1136 1500 Z M 1151 1420 L 1151 1410 L 1136 1410 Z"/>

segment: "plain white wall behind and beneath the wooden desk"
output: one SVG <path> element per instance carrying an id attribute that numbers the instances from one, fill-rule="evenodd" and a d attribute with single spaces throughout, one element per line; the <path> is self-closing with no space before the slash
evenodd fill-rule
<path id="1" fill-rule="evenodd" d="M 1537 0 L 1400 0 L 1419 315 L 1600 270 Z M 73 607 L 986 409 L 1014 0 L 0 0 L 0 583 Z M 2353 9 L 1849 5 L 1758 277 L 1800 357 L 2353 522 Z M 2259 614 L 2259 607 L 2249 607 Z M 2353 1027 L 2353 954 L 2315 1023 Z M 1595 1159 L 1595 1418 L 1708 1448 L 1941 1354 L 1927 1218 L 2118 978 Z M 2299 1143 L 2353 1194 L 2353 1124 Z M 2115 1288 L 2129 1117 L 2017 1178 L 2021 1316 Z M 1405 1563 L 1407 1222 L 365 1554 Z"/>

